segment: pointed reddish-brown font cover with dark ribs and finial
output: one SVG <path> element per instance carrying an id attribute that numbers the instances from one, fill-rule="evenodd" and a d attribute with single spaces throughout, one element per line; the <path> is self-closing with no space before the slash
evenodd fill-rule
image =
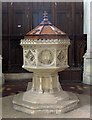
<path id="1" fill-rule="evenodd" d="M 48 20 L 48 13 L 45 11 L 43 15 L 43 21 L 32 31 L 28 32 L 25 38 L 29 39 L 42 39 L 42 38 L 61 38 L 66 37 L 66 33 L 55 27 Z"/>

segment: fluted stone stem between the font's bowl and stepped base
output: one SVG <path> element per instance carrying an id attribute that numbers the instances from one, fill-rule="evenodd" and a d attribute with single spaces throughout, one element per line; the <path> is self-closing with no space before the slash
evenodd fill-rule
<path id="1" fill-rule="evenodd" d="M 54 93 L 61 89 L 58 81 L 58 73 L 34 73 L 32 91 L 38 93 Z"/>

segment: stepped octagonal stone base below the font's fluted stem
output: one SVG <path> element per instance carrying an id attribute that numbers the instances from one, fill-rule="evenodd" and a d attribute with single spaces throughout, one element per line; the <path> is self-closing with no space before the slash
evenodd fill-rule
<path id="1" fill-rule="evenodd" d="M 30 97 L 28 97 L 30 96 Z M 28 114 L 62 114 L 78 107 L 78 98 L 73 93 L 21 93 L 13 98 L 13 107 Z"/>

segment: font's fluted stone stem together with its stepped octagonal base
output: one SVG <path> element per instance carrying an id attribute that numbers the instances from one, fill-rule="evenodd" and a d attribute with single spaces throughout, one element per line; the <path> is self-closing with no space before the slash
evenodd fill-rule
<path id="1" fill-rule="evenodd" d="M 28 114 L 61 114 L 78 102 L 75 94 L 62 90 L 56 73 L 34 74 L 32 88 L 13 98 L 14 109 Z"/>

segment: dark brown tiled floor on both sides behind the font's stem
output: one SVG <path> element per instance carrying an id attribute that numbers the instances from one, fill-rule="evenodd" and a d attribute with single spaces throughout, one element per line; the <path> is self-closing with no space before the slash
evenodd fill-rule
<path id="1" fill-rule="evenodd" d="M 0 88 L 0 93 L 2 93 L 2 96 L 5 97 L 26 91 L 28 82 L 30 82 L 30 80 L 7 80 L 2 88 Z M 92 95 L 92 91 L 90 91 L 92 86 L 82 83 L 62 83 L 62 88 L 65 91 Z"/>

